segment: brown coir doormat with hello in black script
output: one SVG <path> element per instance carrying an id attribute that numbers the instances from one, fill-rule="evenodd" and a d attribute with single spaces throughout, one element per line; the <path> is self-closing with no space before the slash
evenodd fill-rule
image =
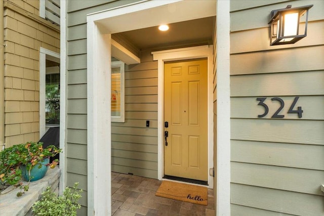
<path id="1" fill-rule="evenodd" d="M 207 205 L 207 187 L 163 181 L 155 196 Z"/>

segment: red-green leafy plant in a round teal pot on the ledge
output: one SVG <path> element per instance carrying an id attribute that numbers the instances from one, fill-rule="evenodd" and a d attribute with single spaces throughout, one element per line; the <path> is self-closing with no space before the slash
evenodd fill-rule
<path id="1" fill-rule="evenodd" d="M 29 182 L 37 181 L 46 174 L 48 166 L 54 168 L 58 160 L 49 163 L 49 157 L 53 157 L 62 150 L 51 145 L 43 148 L 43 143 L 27 142 L 9 147 L 0 152 L 0 183 L 18 185 L 24 191 L 28 191 Z M 42 173 L 39 174 L 39 171 Z M 22 180 L 28 182 L 23 185 Z M 17 193 L 21 196 L 22 191 Z"/>

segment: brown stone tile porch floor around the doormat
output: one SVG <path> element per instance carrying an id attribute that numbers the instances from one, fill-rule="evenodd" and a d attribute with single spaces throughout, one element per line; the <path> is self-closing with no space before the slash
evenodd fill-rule
<path id="1" fill-rule="evenodd" d="M 111 214 L 117 215 L 215 215 L 213 190 L 208 205 L 155 196 L 161 184 L 156 179 L 111 173 Z"/>

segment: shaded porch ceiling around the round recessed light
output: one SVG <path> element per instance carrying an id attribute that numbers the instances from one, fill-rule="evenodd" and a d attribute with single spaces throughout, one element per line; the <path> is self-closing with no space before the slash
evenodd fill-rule
<path id="1" fill-rule="evenodd" d="M 168 24 L 168 31 L 158 26 L 112 34 L 120 44 L 131 50 L 163 50 L 200 45 L 212 45 L 216 16 Z"/>

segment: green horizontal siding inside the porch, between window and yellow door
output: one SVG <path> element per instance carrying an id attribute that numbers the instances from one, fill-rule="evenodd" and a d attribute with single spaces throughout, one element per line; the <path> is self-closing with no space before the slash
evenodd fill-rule
<path id="1" fill-rule="evenodd" d="M 125 123 L 112 123 L 112 171 L 157 178 L 157 63 L 125 71 Z"/>

